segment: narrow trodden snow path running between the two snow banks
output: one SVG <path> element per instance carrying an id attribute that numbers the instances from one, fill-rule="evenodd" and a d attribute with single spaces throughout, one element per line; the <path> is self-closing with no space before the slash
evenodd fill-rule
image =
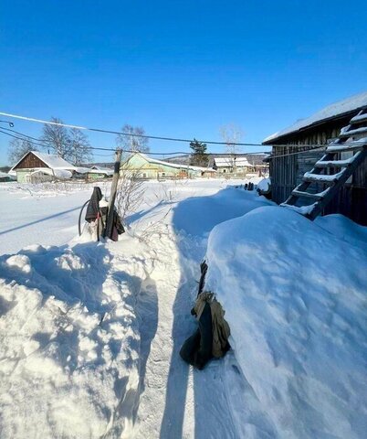
<path id="1" fill-rule="evenodd" d="M 129 432 L 122 437 L 235 439 L 241 434 L 236 431 L 232 412 L 237 416 L 236 425 L 243 424 L 241 417 L 246 415 L 248 424 L 259 423 L 258 428 L 251 427 L 257 437 L 268 437 L 262 434 L 267 426 L 266 414 L 257 410 L 256 403 L 246 412 L 246 404 L 228 402 L 236 386 L 246 387 L 233 354 L 212 361 L 201 371 L 189 367 L 179 356 L 184 340 L 197 325 L 190 310 L 197 294 L 207 233 L 216 223 L 264 204 L 268 201 L 255 194 L 225 189 L 148 210 L 154 219 L 149 225 L 152 232 L 143 232 L 142 236 L 152 255 L 152 272 L 142 284 L 137 303 L 141 321 L 141 396 L 132 435 Z M 135 224 L 137 235 L 140 229 L 142 225 Z M 253 415 L 256 411 L 261 413 L 257 420 Z"/>

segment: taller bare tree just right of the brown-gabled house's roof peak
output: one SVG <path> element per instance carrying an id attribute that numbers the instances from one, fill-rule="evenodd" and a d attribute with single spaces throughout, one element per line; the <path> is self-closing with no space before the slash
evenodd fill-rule
<path id="1" fill-rule="evenodd" d="M 63 123 L 61 119 L 57 117 L 51 117 L 51 122 Z M 47 145 L 49 145 L 49 149 L 59 157 L 70 161 L 73 160 L 73 148 L 68 130 L 65 126 L 45 123 L 41 140 L 46 142 Z"/>

